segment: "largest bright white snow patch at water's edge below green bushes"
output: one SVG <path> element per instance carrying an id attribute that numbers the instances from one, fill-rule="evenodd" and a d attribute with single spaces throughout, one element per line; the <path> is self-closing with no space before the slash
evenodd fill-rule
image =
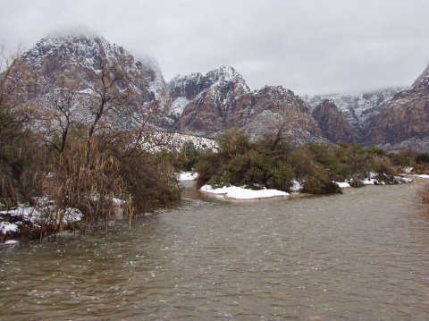
<path id="1" fill-rule="evenodd" d="M 223 186 L 214 189 L 210 185 L 204 185 L 201 190 L 207 193 L 222 194 L 229 199 L 268 199 L 290 195 L 282 190 L 249 190 L 237 186 Z"/>

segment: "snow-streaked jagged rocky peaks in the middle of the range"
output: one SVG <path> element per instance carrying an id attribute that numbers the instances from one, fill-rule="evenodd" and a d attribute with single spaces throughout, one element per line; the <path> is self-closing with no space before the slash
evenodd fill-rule
<path id="1" fill-rule="evenodd" d="M 266 86 L 252 92 L 232 67 L 177 76 L 169 88 L 182 131 L 210 135 L 237 128 L 258 136 L 282 127 L 296 142 L 322 139 L 310 110 L 292 91 Z"/>

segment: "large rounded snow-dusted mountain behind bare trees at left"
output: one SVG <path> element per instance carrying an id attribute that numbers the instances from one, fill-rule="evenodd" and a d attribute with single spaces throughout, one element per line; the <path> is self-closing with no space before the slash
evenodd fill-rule
<path id="1" fill-rule="evenodd" d="M 15 68 L 29 72 L 29 86 L 21 91 L 21 97 L 38 99 L 41 106 L 48 106 L 49 96 L 60 88 L 90 95 L 105 66 L 119 66 L 127 79 L 126 88 L 119 81 L 114 84 L 116 92 L 126 94 L 116 113 L 122 128 L 132 128 L 142 121 L 141 106 L 147 112 L 156 108 L 156 113 L 151 113 L 154 124 L 165 126 L 171 122 L 168 89 L 156 62 L 136 59 L 102 36 L 52 33 L 24 53 Z M 82 108 L 81 113 L 88 110 Z"/>

